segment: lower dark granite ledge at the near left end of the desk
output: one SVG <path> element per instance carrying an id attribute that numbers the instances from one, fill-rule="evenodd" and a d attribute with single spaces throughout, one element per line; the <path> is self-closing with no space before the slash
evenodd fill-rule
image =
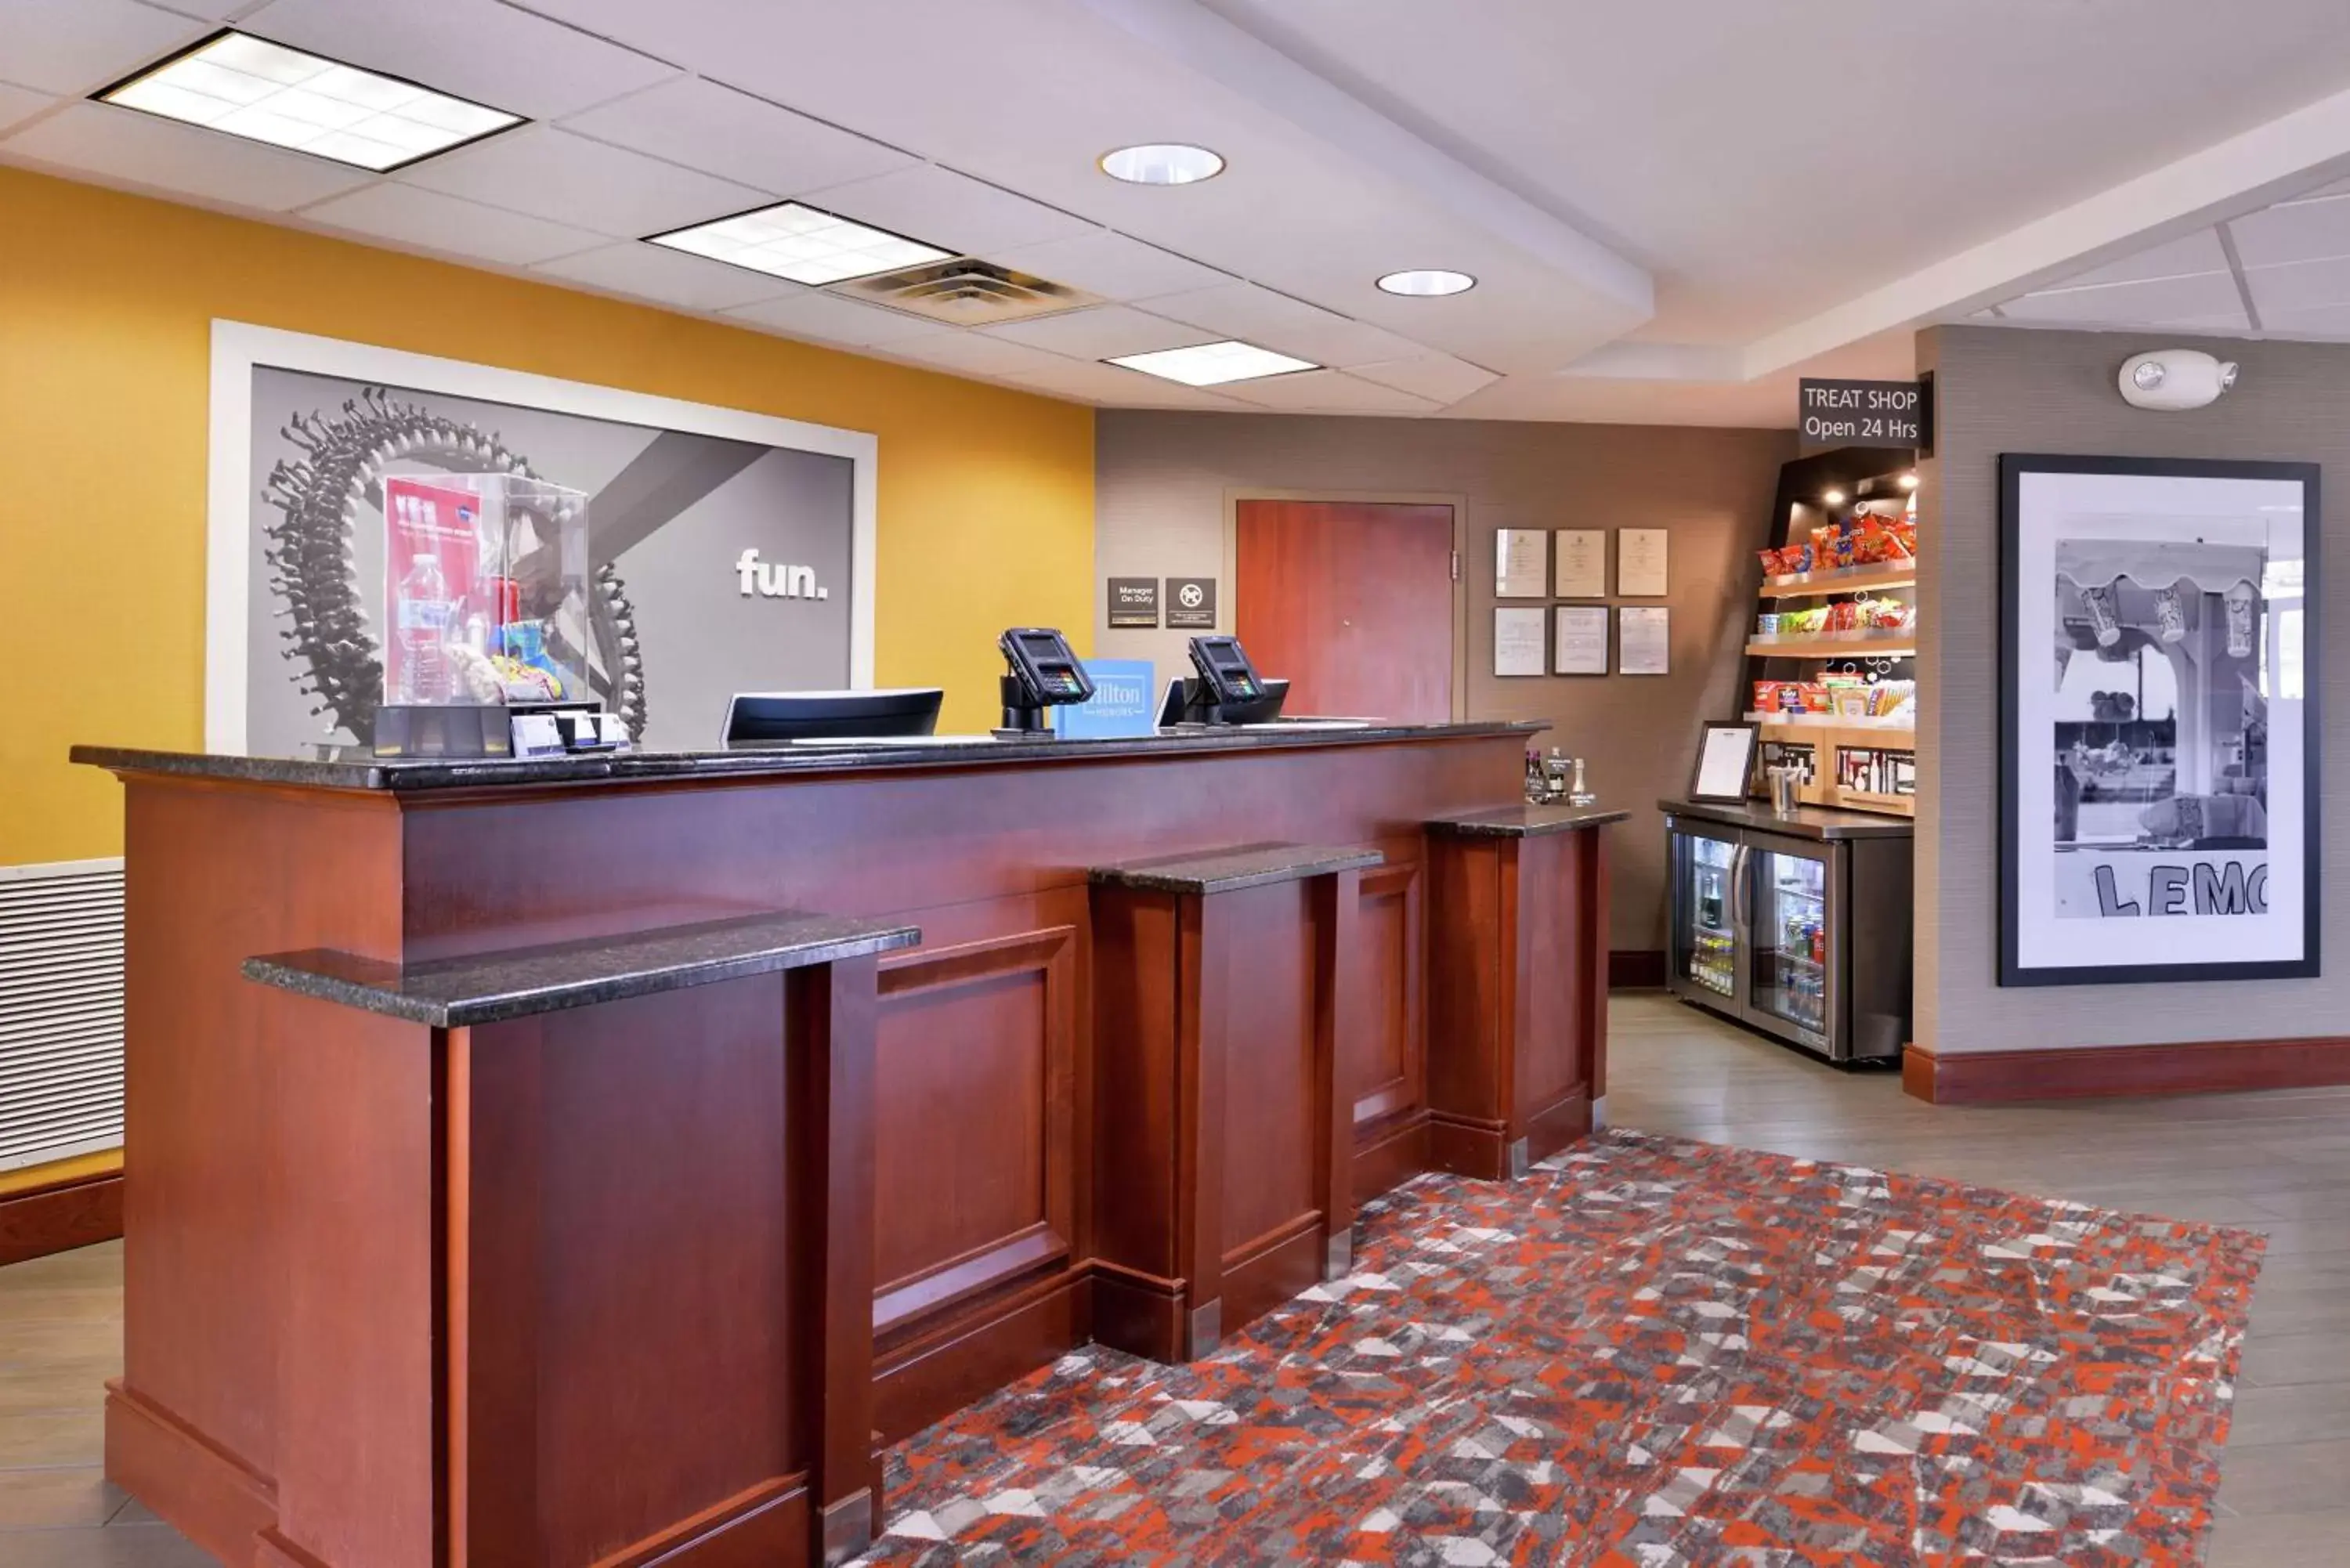
<path id="1" fill-rule="evenodd" d="M 752 914 L 407 966 L 331 947 L 273 952 L 244 959 L 244 978 L 435 1030 L 458 1030 L 891 952 L 919 940 L 921 931 L 914 926 L 886 919 Z"/>

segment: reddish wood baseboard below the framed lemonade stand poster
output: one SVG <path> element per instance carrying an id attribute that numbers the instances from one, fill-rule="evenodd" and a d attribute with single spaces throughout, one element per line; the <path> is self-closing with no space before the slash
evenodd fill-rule
<path id="1" fill-rule="evenodd" d="M 2204 1039 L 2174 1046 L 1950 1051 L 1908 1046 L 1901 1088 L 1932 1105 L 2334 1088 L 2350 1084 L 2350 1039 Z"/>

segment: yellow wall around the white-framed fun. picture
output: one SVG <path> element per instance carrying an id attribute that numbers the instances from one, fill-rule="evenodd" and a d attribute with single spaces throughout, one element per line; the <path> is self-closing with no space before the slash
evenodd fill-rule
<path id="1" fill-rule="evenodd" d="M 120 851 L 78 741 L 204 741 L 209 322 L 881 437 L 874 675 L 994 717 L 996 632 L 1093 625 L 1093 411 L 0 169 L 0 865 Z"/>

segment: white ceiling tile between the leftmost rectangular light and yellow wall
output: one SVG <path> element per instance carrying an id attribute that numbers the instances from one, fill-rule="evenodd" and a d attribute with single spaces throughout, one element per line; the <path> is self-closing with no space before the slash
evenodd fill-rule
<path id="1" fill-rule="evenodd" d="M 14 132 L 0 141 L 0 155 L 263 212 L 308 207 L 374 179 L 367 169 L 87 101 Z"/>

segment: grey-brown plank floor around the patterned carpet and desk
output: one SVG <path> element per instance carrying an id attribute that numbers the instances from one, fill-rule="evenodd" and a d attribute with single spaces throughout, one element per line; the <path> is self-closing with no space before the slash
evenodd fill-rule
<path id="1" fill-rule="evenodd" d="M 1664 997 L 1617 997 L 1619 1126 L 2270 1234 L 2211 1568 L 2350 1563 L 2350 1088 L 1929 1107 Z M 0 1269 L 0 1568 L 202 1568 L 99 1474 L 122 1248 Z"/>

